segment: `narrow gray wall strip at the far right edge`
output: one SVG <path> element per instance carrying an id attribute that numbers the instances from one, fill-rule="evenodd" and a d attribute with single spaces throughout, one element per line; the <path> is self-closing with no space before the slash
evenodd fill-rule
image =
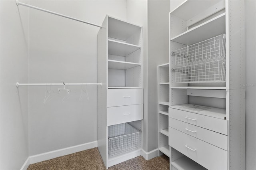
<path id="1" fill-rule="evenodd" d="M 256 1 L 245 1 L 245 160 L 246 170 L 256 169 Z"/>

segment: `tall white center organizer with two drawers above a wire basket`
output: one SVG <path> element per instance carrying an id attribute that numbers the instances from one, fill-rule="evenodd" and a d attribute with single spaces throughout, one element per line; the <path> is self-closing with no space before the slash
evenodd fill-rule
<path id="1" fill-rule="evenodd" d="M 106 16 L 98 32 L 98 149 L 106 168 L 140 156 L 142 27 Z"/>

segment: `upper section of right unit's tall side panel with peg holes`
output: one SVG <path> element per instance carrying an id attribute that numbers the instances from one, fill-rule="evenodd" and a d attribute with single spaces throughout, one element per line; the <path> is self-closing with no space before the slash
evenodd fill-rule
<path id="1" fill-rule="evenodd" d="M 244 0 L 226 1 L 226 86 L 244 89 Z"/>

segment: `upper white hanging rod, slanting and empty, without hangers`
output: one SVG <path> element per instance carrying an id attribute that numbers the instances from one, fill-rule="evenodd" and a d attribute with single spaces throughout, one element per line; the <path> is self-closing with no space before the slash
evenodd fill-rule
<path id="1" fill-rule="evenodd" d="M 40 10 L 40 11 L 43 11 L 43 12 L 48 12 L 48 13 L 50 13 L 50 14 L 54 14 L 54 15 L 57 15 L 57 16 L 62 16 L 62 17 L 65 17 L 65 18 L 68 18 L 68 19 L 71 19 L 71 20 L 83 22 L 83 23 L 85 23 L 85 24 L 90 24 L 90 25 L 92 25 L 92 26 L 96 26 L 96 27 L 102 28 L 102 26 L 100 26 L 100 25 L 93 24 L 93 23 L 90 23 L 90 22 L 86 22 L 86 21 L 83 21 L 83 20 L 79 20 L 79 19 L 76 19 L 76 18 L 73 18 L 73 17 L 70 17 L 70 16 L 66 16 L 66 15 L 63 15 L 63 14 L 59 14 L 59 13 L 57 13 L 57 12 L 52 12 L 52 11 L 49 11 L 49 10 L 45 10 L 45 9 L 43 9 L 43 8 L 38 8 L 38 7 L 36 7 L 36 6 L 32 6 L 32 5 L 29 5 L 29 4 L 24 4 L 24 3 L 22 3 L 22 2 L 18 2 L 18 0 L 16 0 L 16 4 L 17 4 L 17 6 L 18 6 L 18 5 L 26 6 L 26 7 L 29 7 L 29 8 L 33 8 L 33 9 Z"/>

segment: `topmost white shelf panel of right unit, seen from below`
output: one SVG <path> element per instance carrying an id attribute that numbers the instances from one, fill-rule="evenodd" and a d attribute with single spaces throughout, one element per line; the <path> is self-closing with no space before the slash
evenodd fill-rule
<path id="1" fill-rule="evenodd" d="M 182 20 L 189 20 L 200 14 L 202 10 L 206 10 L 220 1 L 221 0 L 186 0 L 170 13 Z"/>

